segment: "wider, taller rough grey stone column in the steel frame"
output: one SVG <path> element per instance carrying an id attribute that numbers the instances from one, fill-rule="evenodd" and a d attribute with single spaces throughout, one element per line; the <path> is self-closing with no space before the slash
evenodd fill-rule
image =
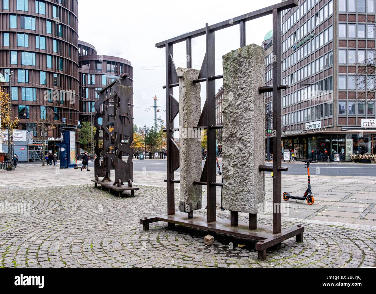
<path id="1" fill-rule="evenodd" d="M 223 56 L 223 191 L 230 211 L 263 211 L 265 106 L 258 88 L 264 83 L 265 50 L 251 44 Z M 261 210 L 259 210 L 261 208 Z"/>

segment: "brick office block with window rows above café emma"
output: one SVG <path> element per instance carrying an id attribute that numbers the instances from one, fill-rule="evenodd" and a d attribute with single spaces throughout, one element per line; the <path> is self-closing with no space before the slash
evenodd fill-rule
<path id="1" fill-rule="evenodd" d="M 374 0 L 298 2 L 282 15 L 283 149 L 317 160 L 376 154 L 376 128 L 361 125 L 375 119 Z"/>

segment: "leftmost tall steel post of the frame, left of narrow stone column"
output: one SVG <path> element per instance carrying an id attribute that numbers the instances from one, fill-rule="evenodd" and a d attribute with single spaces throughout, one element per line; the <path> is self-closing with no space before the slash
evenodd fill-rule
<path id="1" fill-rule="evenodd" d="M 174 121 L 171 118 L 170 105 L 171 105 L 171 95 L 173 95 L 174 90 L 170 86 L 171 84 L 171 72 L 170 72 L 170 55 L 173 56 L 173 45 L 166 44 L 166 147 L 167 147 L 167 214 L 175 214 L 175 189 L 174 183 L 171 179 L 174 179 L 174 172 L 171 168 L 171 141 L 173 140 L 173 133 L 170 128 L 174 128 Z M 168 223 L 168 227 L 173 227 L 173 223 Z"/>

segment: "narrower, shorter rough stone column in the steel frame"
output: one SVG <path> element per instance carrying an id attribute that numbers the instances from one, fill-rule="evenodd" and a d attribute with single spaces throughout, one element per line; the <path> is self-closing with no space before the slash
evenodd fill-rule
<path id="1" fill-rule="evenodd" d="M 200 131 L 195 129 L 201 115 L 200 83 L 192 81 L 199 70 L 178 68 L 179 76 L 179 133 L 180 133 L 180 211 L 191 212 L 201 208 L 202 186 L 200 181 L 202 152 Z"/>

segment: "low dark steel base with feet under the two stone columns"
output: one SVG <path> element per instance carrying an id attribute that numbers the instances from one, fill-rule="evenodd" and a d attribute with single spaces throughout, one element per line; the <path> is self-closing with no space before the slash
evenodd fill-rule
<path id="1" fill-rule="evenodd" d="M 297 242 L 303 242 L 304 226 L 297 225 L 296 228 L 282 229 L 278 234 L 273 233 L 273 227 L 258 225 L 257 229 L 249 229 L 248 223 L 238 223 L 238 226 L 231 226 L 229 220 L 219 219 L 215 222 L 208 223 L 206 216 L 195 215 L 189 218 L 187 213 L 175 213 L 172 215 L 162 215 L 155 217 L 145 217 L 140 220 L 143 225 L 143 230 L 149 230 L 149 223 L 164 221 L 168 223 L 171 228 L 174 224 L 188 226 L 191 228 L 202 229 L 206 231 L 227 234 L 247 239 L 259 240 L 255 244 L 255 249 L 258 251 L 258 258 L 266 259 L 266 250 L 270 247 L 274 249 L 280 248 L 280 243 L 291 237 L 296 236 Z"/>

